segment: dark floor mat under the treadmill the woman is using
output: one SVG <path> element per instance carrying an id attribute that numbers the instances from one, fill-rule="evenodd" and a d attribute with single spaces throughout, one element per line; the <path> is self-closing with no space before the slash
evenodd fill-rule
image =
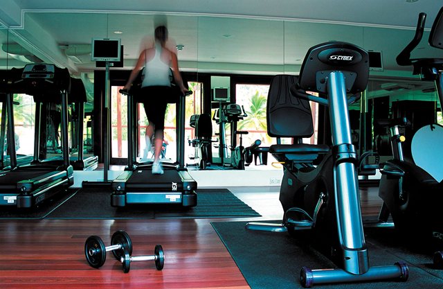
<path id="1" fill-rule="evenodd" d="M 199 189 L 197 207 L 172 205 L 127 205 L 111 207 L 109 189 L 80 189 L 46 218 L 50 219 L 152 219 L 257 217 L 256 211 L 226 189 Z"/>

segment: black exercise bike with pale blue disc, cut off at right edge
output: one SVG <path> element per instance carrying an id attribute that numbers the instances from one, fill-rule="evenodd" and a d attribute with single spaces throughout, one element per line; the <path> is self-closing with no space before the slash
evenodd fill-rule
<path id="1" fill-rule="evenodd" d="M 413 40 L 397 56 L 397 64 L 413 65 L 413 74 L 420 75 L 423 80 L 432 80 L 437 88 L 440 104 L 443 103 L 443 59 L 419 58 L 411 59 L 410 53 L 422 40 L 426 14 L 420 13 Z M 443 8 L 437 13 L 428 40 L 429 44 L 443 49 Z M 426 132 L 427 131 L 427 132 Z M 426 132 L 426 137 L 422 137 Z M 426 125 L 419 129 L 411 143 L 413 160 L 406 160 L 401 154 L 401 143 L 392 142 L 397 157 L 387 161 L 381 168 L 379 196 L 383 200 L 381 220 L 389 214 L 395 228 L 408 239 L 419 238 L 421 246 L 443 248 L 443 222 L 441 205 L 443 202 L 443 182 L 431 171 L 441 171 L 441 142 L 430 139 L 443 139 L 443 128 L 439 125 Z M 427 144 L 423 141 L 428 139 Z M 418 146 L 415 146 L 418 143 Z M 432 146 L 437 146 L 433 149 Z M 428 155 L 428 164 L 422 163 L 423 155 Z M 440 159 L 440 161 L 438 161 Z M 428 166 L 426 168 L 426 166 Z M 428 244 L 425 245 L 424 241 Z M 431 245 L 431 246 L 429 246 Z M 441 252 L 435 253 L 435 263 L 443 264 Z"/>

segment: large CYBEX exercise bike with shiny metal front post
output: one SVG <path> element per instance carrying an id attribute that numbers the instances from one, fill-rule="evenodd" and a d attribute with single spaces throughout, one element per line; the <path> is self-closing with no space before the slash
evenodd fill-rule
<path id="1" fill-rule="evenodd" d="M 312 128 L 307 100 L 329 107 L 332 149 L 300 142 L 269 148 L 284 166 L 280 187 L 280 202 L 285 212 L 282 224 L 247 225 L 248 229 L 289 231 L 296 235 L 310 233 L 309 243 L 315 243 L 339 268 L 302 268 L 300 283 L 304 287 L 318 283 L 408 279 L 405 263 L 369 266 L 359 204 L 358 161 L 347 109 L 365 90 L 368 76 L 366 51 L 345 42 L 328 42 L 309 49 L 298 80 L 293 76 L 280 76 L 274 78 L 269 88 L 267 123 L 271 137 L 308 137 L 313 130 L 305 130 Z M 275 82 L 280 86 L 274 88 Z M 291 85 L 293 82 L 296 85 Z M 282 84 L 286 85 L 282 87 Z M 295 97 L 287 96 L 289 87 Z M 348 95 L 351 96 L 348 98 Z M 297 107 L 291 110 L 294 105 Z M 273 119 L 269 119 L 273 114 Z M 315 166 L 314 161 L 319 157 L 320 164 Z"/>

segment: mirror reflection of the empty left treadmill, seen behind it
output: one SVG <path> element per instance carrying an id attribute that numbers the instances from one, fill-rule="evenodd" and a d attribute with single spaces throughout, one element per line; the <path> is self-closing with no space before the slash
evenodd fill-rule
<path id="1" fill-rule="evenodd" d="M 47 101 L 45 102 L 46 95 L 42 98 L 37 98 L 36 101 L 42 103 L 42 117 L 41 119 L 46 119 L 48 114 Z M 95 155 L 84 156 L 84 142 L 83 142 L 83 119 L 84 119 L 84 103 L 87 102 L 86 89 L 84 89 L 83 81 L 80 78 L 71 78 L 71 87 L 68 93 L 68 104 L 72 105 L 71 110 L 71 153 L 69 156 L 69 163 L 73 166 L 74 170 L 95 170 L 98 167 L 98 157 Z M 59 104 L 60 101 L 57 102 Z M 46 123 L 46 122 L 45 122 Z M 55 128 L 57 130 L 57 128 Z M 56 132 L 57 133 L 57 132 Z M 35 143 L 35 146 L 39 146 L 41 149 L 46 149 L 46 128 L 40 128 L 39 131 L 40 143 Z M 37 150 L 37 148 L 34 148 Z M 42 159 L 42 152 L 39 153 L 38 157 L 33 159 L 33 164 L 38 164 L 40 162 L 46 164 L 60 165 L 62 164 L 63 157 L 54 157 L 46 159 L 46 155 Z"/>

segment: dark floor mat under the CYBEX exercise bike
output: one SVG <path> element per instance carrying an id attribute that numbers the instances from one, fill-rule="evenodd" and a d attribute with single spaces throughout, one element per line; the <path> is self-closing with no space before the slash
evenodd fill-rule
<path id="1" fill-rule="evenodd" d="M 303 266 L 336 268 L 312 246 L 287 233 L 248 231 L 246 222 L 212 222 L 212 225 L 252 289 L 302 288 L 299 275 Z M 442 272 L 432 268 L 431 256 L 413 254 L 404 251 L 404 247 L 386 246 L 386 242 L 392 242 L 392 236 L 385 233 L 372 235 L 365 231 L 370 265 L 405 261 L 409 268 L 408 281 L 322 284 L 314 288 L 443 288 Z"/>

